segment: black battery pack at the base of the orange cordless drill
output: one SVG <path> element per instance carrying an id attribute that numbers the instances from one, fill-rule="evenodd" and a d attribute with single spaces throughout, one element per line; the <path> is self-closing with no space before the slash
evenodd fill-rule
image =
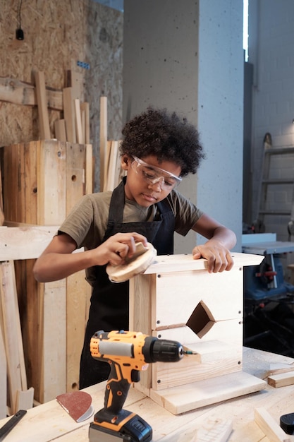
<path id="1" fill-rule="evenodd" d="M 133 414 L 117 431 L 101 426 L 97 422 L 91 422 L 89 440 L 90 442 L 149 442 L 152 440 L 152 427 L 137 414 Z"/>

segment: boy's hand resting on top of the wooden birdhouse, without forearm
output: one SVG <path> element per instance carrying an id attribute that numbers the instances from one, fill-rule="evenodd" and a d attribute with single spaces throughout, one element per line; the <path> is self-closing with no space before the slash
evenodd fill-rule
<path id="1" fill-rule="evenodd" d="M 231 270 L 233 267 L 233 258 L 231 253 L 219 241 L 213 239 L 192 250 L 193 259 L 207 259 L 207 270 L 209 273 L 223 272 Z"/>

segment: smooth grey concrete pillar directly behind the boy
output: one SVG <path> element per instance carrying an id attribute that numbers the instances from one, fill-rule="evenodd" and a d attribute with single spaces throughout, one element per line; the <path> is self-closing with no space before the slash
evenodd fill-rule
<path id="1" fill-rule="evenodd" d="M 125 0 L 123 44 L 123 121 L 153 104 L 196 124 L 207 159 L 180 191 L 231 227 L 240 250 L 243 1 Z M 177 236 L 176 253 L 195 240 Z"/>

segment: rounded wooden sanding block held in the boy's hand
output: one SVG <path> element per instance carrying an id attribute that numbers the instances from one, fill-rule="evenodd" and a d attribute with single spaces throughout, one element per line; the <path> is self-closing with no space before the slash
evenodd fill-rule
<path id="1" fill-rule="evenodd" d="M 138 242 L 132 258 L 125 260 L 125 263 L 120 265 L 109 264 L 106 266 L 109 280 L 111 282 L 123 282 L 139 273 L 144 273 L 149 265 L 154 262 L 155 256 L 157 256 L 157 250 L 154 249 L 152 244 L 148 242 L 147 247 L 145 247 L 142 242 Z"/>

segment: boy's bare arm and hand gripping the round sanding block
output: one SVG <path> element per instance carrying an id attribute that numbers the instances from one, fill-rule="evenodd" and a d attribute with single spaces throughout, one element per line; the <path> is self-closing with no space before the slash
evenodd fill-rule
<path id="1" fill-rule="evenodd" d="M 33 273 L 38 282 L 61 280 L 79 270 L 94 265 L 119 265 L 124 258 L 131 258 L 136 251 L 135 243 L 142 242 L 147 246 L 147 239 L 135 232 L 117 233 L 104 241 L 96 249 L 79 251 L 77 244 L 68 234 L 54 237 L 42 255 L 37 259 Z"/>

